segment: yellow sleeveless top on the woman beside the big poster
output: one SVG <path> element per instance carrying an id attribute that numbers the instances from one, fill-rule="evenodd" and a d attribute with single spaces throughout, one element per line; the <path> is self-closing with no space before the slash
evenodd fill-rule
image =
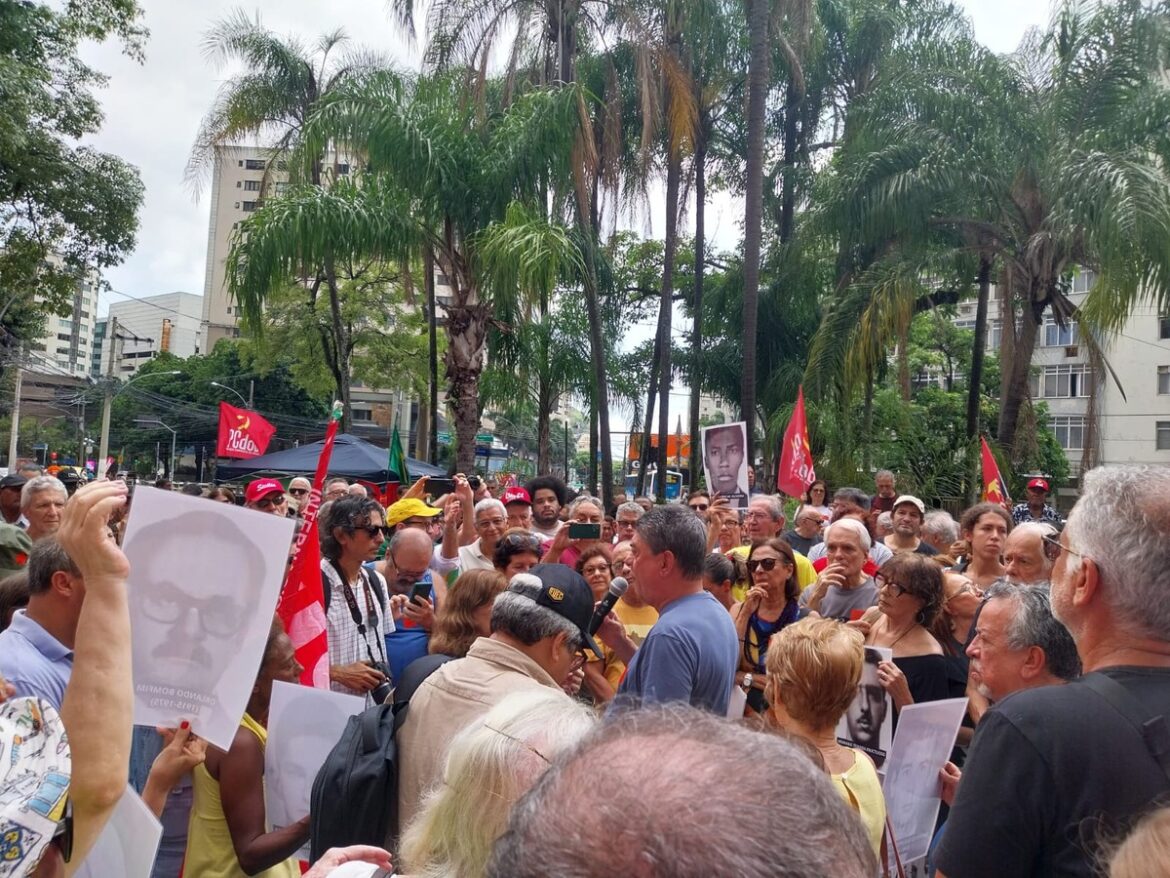
<path id="1" fill-rule="evenodd" d="M 268 729 L 248 714 L 243 714 L 240 725 L 260 739 L 260 747 L 263 749 L 268 743 Z M 219 781 L 211 776 L 206 766 L 195 766 L 192 776 L 195 801 L 191 808 L 187 855 L 183 873 L 191 878 L 247 878 L 247 873 L 240 869 L 240 860 L 236 859 L 235 848 L 232 845 L 232 832 L 227 828 L 227 817 L 223 816 Z M 301 878 L 301 869 L 296 858 L 290 857 L 271 869 L 257 872 L 256 877 Z"/>

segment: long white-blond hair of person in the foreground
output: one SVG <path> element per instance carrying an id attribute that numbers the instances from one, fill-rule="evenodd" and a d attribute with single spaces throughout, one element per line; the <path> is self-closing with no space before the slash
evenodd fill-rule
<path id="1" fill-rule="evenodd" d="M 399 871 L 482 876 L 512 805 L 596 723 L 593 711 L 559 690 L 508 695 L 452 741 L 442 782 L 402 834 Z"/>

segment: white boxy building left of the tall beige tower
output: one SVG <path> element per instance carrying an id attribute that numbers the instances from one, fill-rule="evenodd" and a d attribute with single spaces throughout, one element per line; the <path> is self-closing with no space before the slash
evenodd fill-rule
<path id="1" fill-rule="evenodd" d="M 111 356 L 117 357 L 113 373 L 126 378 L 161 351 L 184 358 L 199 354 L 202 314 L 202 296 L 193 293 L 164 293 L 112 303 L 103 330 L 101 373 L 108 372 Z M 110 337 L 115 320 L 117 335 Z"/>

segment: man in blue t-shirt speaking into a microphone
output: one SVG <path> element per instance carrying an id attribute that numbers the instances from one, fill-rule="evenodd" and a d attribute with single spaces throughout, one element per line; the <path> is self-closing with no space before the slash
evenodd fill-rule
<path id="1" fill-rule="evenodd" d="M 659 620 L 640 647 L 610 617 L 598 636 L 627 665 L 617 704 L 686 701 L 723 715 L 739 656 L 728 611 L 703 590 L 707 528 L 684 506 L 658 506 L 634 528 L 633 570 Z"/>

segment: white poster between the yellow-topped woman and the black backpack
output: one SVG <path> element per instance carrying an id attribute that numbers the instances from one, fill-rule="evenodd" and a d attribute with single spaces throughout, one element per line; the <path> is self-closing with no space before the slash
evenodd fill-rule
<path id="1" fill-rule="evenodd" d="M 264 800 L 273 829 L 309 814 L 312 782 L 365 699 L 277 680 L 268 708 Z"/>

